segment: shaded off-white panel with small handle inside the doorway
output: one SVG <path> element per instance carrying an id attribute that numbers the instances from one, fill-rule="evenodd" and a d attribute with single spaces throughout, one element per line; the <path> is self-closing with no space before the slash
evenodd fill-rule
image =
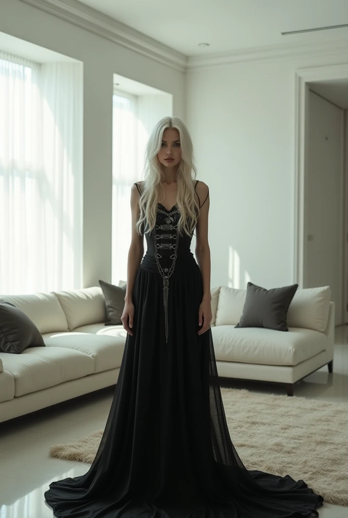
<path id="1" fill-rule="evenodd" d="M 331 287 L 343 323 L 344 111 L 309 92 L 303 287 Z M 311 240 L 308 240 L 311 236 Z"/>

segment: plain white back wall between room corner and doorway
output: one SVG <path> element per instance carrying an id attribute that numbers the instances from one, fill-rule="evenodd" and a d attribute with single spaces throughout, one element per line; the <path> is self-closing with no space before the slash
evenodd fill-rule
<path id="1" fill-rule="evenodd" d="M 191 70 L 187 123 L 210 187 L 211 283 L 294 282 L 295 70 L 343 55 Z"/>

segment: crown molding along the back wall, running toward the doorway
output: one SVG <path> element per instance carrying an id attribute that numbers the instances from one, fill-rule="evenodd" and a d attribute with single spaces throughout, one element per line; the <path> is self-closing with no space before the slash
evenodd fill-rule
<path id="1" fill-rule="evenodd" d="M 294 59 L 299 56 L 315 54 L 330 55 L 339 52 L 348 52 L 348 39 L 318 41 L 314 43 L 269 45 L 230 52 L 190 56 L 187 60 L 186 69 L 196 70 L 233 63 Z"/>

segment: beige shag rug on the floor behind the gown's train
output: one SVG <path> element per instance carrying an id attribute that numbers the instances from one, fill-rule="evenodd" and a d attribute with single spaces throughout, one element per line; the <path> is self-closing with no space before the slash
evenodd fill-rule
<path id="1" fill-rule="evenodd" d="M 324 500 L 348 505 L 348 404 L 221 389 L 229 433 L 247 469 L 304 480 Z M 92 463 L 103 430 L 50 449 Z"/>

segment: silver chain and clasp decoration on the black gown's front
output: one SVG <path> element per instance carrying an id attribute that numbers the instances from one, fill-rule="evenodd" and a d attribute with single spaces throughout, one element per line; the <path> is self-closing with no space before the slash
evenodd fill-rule
<path id="1" fill-rule="evenodd" d="M 179 211 L 178 211 L 177 208 L 175 208 L 175 209 L 172 209 L 171 211 L 165 212 L 164 210 L 159 209 L 157 207 L 157 212 L 159 212 L 161 214 L 165 214 L 167 216 L 167 218 L 166 218 L 166 223 L 167 224 L 166 225 L 156 225 L 155 226 L 155 230 L 157 230 L 157 229 L 161 229 L 161 230 L 176 230 L 176 234 L 163 234 L 162 236 L 156 234 L 155 232 L 153 233 L 153 240 L 154 240 L 154 244 L 155 244 L 155 258 L 156 258 L 157 268 L 158 268 L 158 271 L 161 274 L 161 277 L 163 279 L 163 304 L 164 304 L 164 316 L 165 316 L 166 343 L 168 343 L 169 277 L 171 277 L 171 275 L 172 275 L 172 273 L 174 271 L 174 268 L 175 268 L 175 263 L 176 263 L 177 255 L 178 255 L 178 243 L 179 243 L 179 228 L 178 228 L 178 225 L 172 225 L 172 223 L 174 222 L 174 218 L 172 217 L 172 214 L 179 214 Z M 157 242 L 157 239 L 161 239 L 161 238 L 164 239 L 165 237 L 169 238 L 169 239 L 175 239 L 176 240 L 175 244 L 171 244 L 171 243 L 158 243 Z M 173 250 L 175 250 L 175 252 L 170 256 L 170 258 L 172 260 L 172 264 L 171 264 L 170 268 L 162 268 L 162 266 L 159 264 L 158 258 L 162 257 L 162 255 L 160 255 L 158 253 L 158 249 L 173 249 Z"/>

